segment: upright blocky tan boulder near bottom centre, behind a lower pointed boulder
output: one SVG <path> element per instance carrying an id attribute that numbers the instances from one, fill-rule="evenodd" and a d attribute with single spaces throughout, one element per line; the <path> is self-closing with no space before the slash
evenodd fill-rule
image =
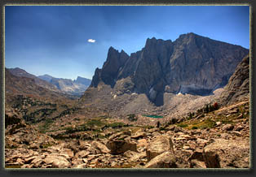
<path id="1" fill-rule="evenodd" d="M 154 136 L 146 149 L 148 161 L 166 151 L 174 153 L 170 136 Z"/>

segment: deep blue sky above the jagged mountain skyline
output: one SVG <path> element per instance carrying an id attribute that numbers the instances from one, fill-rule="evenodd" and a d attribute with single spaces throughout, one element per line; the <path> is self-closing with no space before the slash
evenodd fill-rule
<path id="1" fill-rule="evenodd" d="M 6 6 L 5 65 L 39 76 L 91 79 L 113 46 L 194 32 L 249 49 L 249 6 Z M 89 41 L 88 41 L 89 40 Z"/>

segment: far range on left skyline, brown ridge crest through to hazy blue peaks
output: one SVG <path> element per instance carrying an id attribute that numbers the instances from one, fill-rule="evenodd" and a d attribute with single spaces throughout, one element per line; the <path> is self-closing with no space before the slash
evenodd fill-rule
<path id="1" fill-rule="evenodd" d="M 77 80 L 55 78 L 50 75 L 33 76 L 19 67 L 8 68 L 7 70 L 14 76 L 27 77 L 35 80 L 35 84 L 38 84 L 42 88 L 47 88 L 55 92 L 68 93 L 78 97 L 86 91 L 91 81 L 80 76 L 77 76 Z"/>

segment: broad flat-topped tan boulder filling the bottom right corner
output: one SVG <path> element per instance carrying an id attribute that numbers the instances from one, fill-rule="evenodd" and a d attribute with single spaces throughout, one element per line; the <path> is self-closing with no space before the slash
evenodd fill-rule
<path id="1" fill-rule="evenodd" d="M 249 168 L 249 139 L 216 139 L 205 146 L 203 157 L 208 168 Z"/>

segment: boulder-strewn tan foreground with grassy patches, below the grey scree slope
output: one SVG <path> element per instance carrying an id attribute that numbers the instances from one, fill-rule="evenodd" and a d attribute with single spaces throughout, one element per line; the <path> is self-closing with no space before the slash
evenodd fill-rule
<path id="1" fill-rule="evenodd" d="M 153 126 L 68 114 L 42 125 L 44 132 L 15 111 L 6 114 L 7 168 L 250 167 L 249 101 L 199 110 L 182 121 L 151 118 Z"/>

